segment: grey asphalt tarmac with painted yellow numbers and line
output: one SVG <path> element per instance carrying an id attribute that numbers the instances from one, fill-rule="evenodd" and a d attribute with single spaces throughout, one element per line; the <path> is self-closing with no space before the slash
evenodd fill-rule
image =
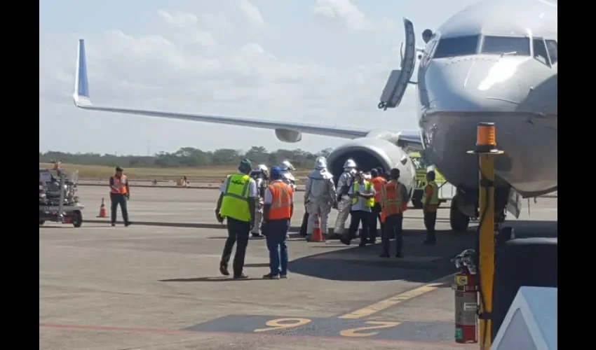
<path id="1" fill-rule="evenodd" d="M 478 349 L 454 342 L 449 262 L 472 246 L 475 225 L 453 234 L 447 208 L 436 246 L 422 245 L 421 211 L 406 212 L 403 259 L 378 258 L 380 244 L 292 235 L 285 280 L 262 280 L 265 241 L 250 239 L 250 278 L 233 281 L 218 271 L 217 191 L 132 190 L 128 228 L 96 218 L 102 197 L 109 216 L 109 196 L 95 186 L 79 189 L 81 228 L 40 226 L 40 349 Z M 302 214 L 298 193 L 294 232 Z M 518 237 L 557 235 L 557 200 L 539 198 L 508 225 Z"/>

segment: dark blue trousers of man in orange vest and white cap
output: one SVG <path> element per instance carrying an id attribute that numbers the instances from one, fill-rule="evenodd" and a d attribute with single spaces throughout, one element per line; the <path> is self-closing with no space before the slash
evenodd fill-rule
<path id="1" fill-rule="evenodd" d="M 273 275 L 287 274 L 287 230 L 290 220 L 269 220 L 266 223 L 265 237 L 269 249 L 269 267 Z"/>

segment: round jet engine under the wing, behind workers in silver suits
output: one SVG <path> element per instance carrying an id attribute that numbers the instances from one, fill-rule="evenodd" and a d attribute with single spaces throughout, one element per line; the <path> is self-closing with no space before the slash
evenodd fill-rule
<path id="1" fill-rule="evenodd" d="M 344 163 L 352 158 L 358 170 L 369 172 L 375 167 L 382 167 L 386 171 L 391 168 L 400 169 L 400 182 L 403 183 L 408 193 L 416 181 L 414 163 L 407 154 L 398 146 L 386 139 L 365 137 L 354 139 L 347 144 L 335 148 L 327 157 L 327 169 L 334 175 L 334 181 L 344 172 Z"/>

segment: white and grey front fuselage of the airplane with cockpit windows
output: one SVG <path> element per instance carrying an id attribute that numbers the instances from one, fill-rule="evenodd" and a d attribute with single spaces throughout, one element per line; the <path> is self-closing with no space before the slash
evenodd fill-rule
<path id="1" fill-rule="evenodd" d="M 447 180 L 478 188 L 478 157 L 466 151 L 475 147 L 478 123 L 495 123 L 505 151 L 496 185 L 533 197 L 557 189 L 557 9 L 503 1 L 498 10 L 495 1 L 470 6 L 428 41 L 419 127 L 426 155 Z"/>

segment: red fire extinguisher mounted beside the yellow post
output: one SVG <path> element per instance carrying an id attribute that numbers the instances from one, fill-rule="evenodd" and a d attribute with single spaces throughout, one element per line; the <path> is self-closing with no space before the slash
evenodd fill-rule
<path id="1" fill-rule="evenodd" d="M 478 342 L 478 274 L 473 262 L 475 252 L 467 249 L 452 259 L 455 274 L 455 342 Z"/>

